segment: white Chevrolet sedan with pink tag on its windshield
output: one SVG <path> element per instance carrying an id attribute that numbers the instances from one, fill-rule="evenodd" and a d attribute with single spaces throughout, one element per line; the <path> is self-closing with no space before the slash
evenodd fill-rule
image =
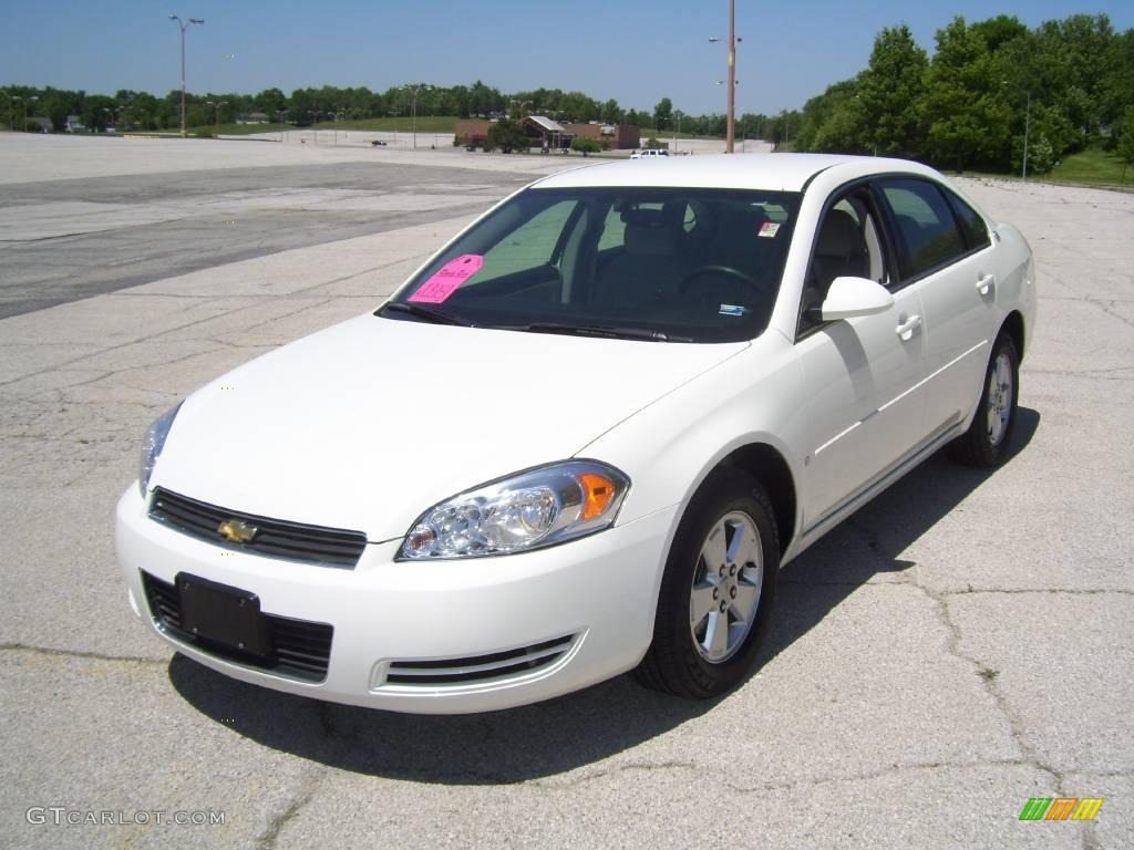
<path id="1" fill-rule="evenodd" d="M 151 426 L 130 605 L 338 703 L 479 712 L 626 671 L 712 697 L 782 564 L 938 449 L 1005 457 L 1035 297 L 1021 233 L 911 162 L 548 177 Z"/>

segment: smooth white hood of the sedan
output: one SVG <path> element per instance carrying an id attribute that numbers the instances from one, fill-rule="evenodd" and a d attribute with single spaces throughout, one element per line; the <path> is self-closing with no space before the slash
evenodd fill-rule
<path id="1" fill-rule="evenodd" d="M 392 539 L 443 499 L 572 457 L 747 345 L 359 316 L 193 393 L 151 485 Z"/>

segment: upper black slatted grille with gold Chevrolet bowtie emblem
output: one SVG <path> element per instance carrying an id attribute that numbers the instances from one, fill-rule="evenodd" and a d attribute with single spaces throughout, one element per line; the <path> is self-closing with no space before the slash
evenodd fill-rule
<path id="1" fill-rule="evenodd" d="M 154 491 L 150 518 L 227 549 L 327 567 L 353 569 L 366 547 L 366 535 L 362 532 L 257 517 L 198 502 L 161 487 Z M 227 520 L 255 526 L 255 537 L 248 543 L 230 542 L 217 530 Z"/>

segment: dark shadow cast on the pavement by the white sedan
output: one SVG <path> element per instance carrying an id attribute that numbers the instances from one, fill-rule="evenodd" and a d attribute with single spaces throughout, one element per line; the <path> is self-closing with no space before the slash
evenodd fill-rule
<path id="1" fill-rule="evenodd" d="M 1019 408 L 1013 457 L 1039 423 L 1039 413 Z M 912 563 L 900 560 L 902 552 L 995 474 L 939 453 L 786 567 L 762 664 L 772 663 L 863 584 L 908 569 Z M 716 704 L 666 697 L 621 675 L 532 706 L 430 716 L 280 694 L 180 654 L 169 664 L 169 678 L 194 708 L 265 747 L 344 771 L 442 784 L 552 776 L 668 732 Z"/>

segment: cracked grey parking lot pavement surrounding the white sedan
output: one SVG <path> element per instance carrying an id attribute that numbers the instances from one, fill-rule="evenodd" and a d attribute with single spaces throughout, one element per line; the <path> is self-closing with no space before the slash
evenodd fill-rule
<path id="1" fill-rule="evenodd" d="M 0 135 L 0 845 L 1134 845 L 1134 195 L 963 181 L 1036 256 L 1018 450 L 932 459 L 787 567 L 742 688 L 426 717 L 175 656 L 115 562 L 151 419 L 581 164 L 312 147 Z"/>

